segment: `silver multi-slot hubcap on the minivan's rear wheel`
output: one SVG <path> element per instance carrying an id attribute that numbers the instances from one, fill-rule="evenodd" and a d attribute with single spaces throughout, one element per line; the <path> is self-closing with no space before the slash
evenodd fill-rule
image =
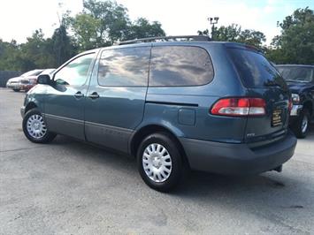
<path id="1" fill-rule="evenodd" d="M 172 158 L 164 146 L 157 143 L 149 144 L 142 155 L 142 166 L 151 180 L 161 183 L 170 177 Z"/>

